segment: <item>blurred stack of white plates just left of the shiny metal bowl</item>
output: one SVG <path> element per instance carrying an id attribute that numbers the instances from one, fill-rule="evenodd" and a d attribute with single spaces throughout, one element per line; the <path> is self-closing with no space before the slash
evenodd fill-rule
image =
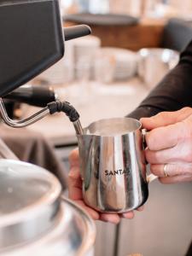
<path id="1" fill-rule="evenodd" d="M 110 82 L 130 79 L 137 73 L 137 53 L 128 49 L 113 47 L 104 47 L 100 51 L 100 55 L 97 55 L 95 66 L 97 78 L 99 77 L 99 70 L 101 70 L 102 77 L 104 73 L 111 74 Z M 105 68 L 106 71 L 104 72 Z"/>

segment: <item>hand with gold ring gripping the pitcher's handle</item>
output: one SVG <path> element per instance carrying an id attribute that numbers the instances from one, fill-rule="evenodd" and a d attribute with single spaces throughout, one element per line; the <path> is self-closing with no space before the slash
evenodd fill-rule
<path id="1" fill-rule="evenodd" d="M 161 183 L 192 181 L 192 108 L 141 119 L 148 148 L 146 160 Z"/>

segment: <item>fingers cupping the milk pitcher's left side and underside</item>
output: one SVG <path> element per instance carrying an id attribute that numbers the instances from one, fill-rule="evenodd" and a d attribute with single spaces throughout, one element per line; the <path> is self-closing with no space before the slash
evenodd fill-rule
<path id="1" fill-rule="evenodd" d="M 96 210 L 85 205 L 83 201 L 82 195 L 82 179 L 80 177 L 79 170 L 79 150 L 74 149 L 69 156 L 70 163 L 70 172 L 68 175 L 68 190 L 69 190 L 69 198 L 73 201 L 76 201 L 81 207 L 84 208 L 86 212 L 90 214 L 90 216 L 97 220 L 100 219 L 102 221 L 111 222 L 114 224 L 118 224 L 120 218 L 133 218 L 134 212 L 125 212 L 122 214 L 108 214 L 102 212 L 96 212 Z M 142 211 L 143 207 L 138 208 L 138 211 Z"/>

